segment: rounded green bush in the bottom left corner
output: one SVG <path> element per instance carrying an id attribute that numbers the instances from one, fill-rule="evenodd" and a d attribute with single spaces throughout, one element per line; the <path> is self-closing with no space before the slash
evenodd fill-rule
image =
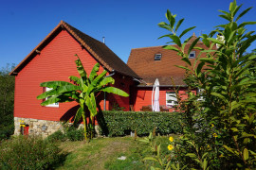
<path id="1" fill-rule="evenodd" d="M 48 169 L 60 161 L 56 144 L 20 136 L 0 144 L 0 169 Z"/>

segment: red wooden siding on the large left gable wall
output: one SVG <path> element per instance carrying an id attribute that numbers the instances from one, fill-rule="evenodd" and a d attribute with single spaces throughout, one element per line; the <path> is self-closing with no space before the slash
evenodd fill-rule
<path id="1" fill-rule="evenodd" d="M 79 55 L 87 74 L 90 74 L 97 61 L 85 49 L 82 49 L 82 46 L 68 32 L 63 30 L 46 45 L 41 54 L 27 63 L 15 76 L 15 117 L 59 121 L 64 113 L 77 106 L 76 102 L 71 102 L 60 103 L 59 108 L 42 107 L 40 105 L 42 100 L 36 98 L 37 95 L 43 93 L 43 88 L 39 86 L 40 83 L 52 80 L 69 81 L 68 76 L 79 76 L 75 54 Z M 100 73 L 102 70 L 101 67 Z M 117 96 L 114 97 L 117 98 Z M 125 99 L 119 97 L 118 101 L 121 101 L 120 106 L 126 106 L 126 103 L 129 105 L 129 97 Z M 100 105 L 103 110 L 103 100 Z M 108 101 L 106 109 L 109 109 Z"/>

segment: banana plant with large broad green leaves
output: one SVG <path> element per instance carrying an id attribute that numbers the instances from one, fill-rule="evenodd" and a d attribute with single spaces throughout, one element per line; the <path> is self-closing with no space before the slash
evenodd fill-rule
<path id="1" fill-rule="evenodd" d="M 77 127 L 78 122 L 83 120 L 84 127 L 84 140 L 87 141 L 87 122 L 85 116 L 85 110 L 90 112 L 90 122 L 89 125 L 92 126 L 92 120 L 97 115 L 97 103 L 96 96 L 98 93 L 115 93 L 121 96 L 129 96 L 128 93 L 122 90 L 108 86 L 109 84 L 114 84 L 115 79 L 111 76 L 106 76 L 107 71 L 98 75 L 100 70 L 100 64 L 96 63 L 93 67 L 89 76 L 87 76 L 86 71 L 82 66 L 82 61 L 78 55 L 75 55 L 78 59 L 75 60 L 77 65 L 77 70 L 79 72 L 78 76 L 69 76 L 68 78 L 73 82 L 65 81 L 47 81 L 40 84 L 41 87 L 51 88 L 50 91 L 41 93 L 37 96 L 37 99 L 45 99 L 41 103 L 42 106 L 46 106 L 53 103 L 64 103 L 76 101 L 79 103 L 80 108 L 77 110 L 73 125 Z M 91 135 L 92 137 L 92 135 Z"/>

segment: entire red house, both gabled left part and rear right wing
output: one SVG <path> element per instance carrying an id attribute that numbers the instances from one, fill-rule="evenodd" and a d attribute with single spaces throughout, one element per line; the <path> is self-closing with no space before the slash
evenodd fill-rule
<path id="1" fill-rule="evenodd" d="M 197 46 L 200 45 L 199 42 Z M 192 51 L 192 62 L 198 52 Z M 170 101 L 175 99 L 170 98 L 174 86 L 179 87 L 179 93 L 186 92 L 184 71 L 174 66 L 183 64 L 176 52 L 161 46 L 132 49 L 127 65 L 104 43 L 61 21 L 9 74 L 15 76 L 15 134 L 20 133 L 21 123 L 24 123 L 28 133 L 48 135 L 63 127 L 60 120 L 68 119 L 70 113 L 76 112 L 76 102 L 42 107 L 42 101 L 36 98 L 44 91 L 40 83 L 69 81 L 68 76 L 79 76 L 75 54 L 78 54 L 87 72 L 99 62 L 100 73 L 103 69 L 107 70 L 108 75 L 116 80 L 114 86 L 130 94 L 130 97 L 121 97 L 101 93 L 99 110 L 111 110 L 118 104 L 124 110 L 138 111 L 143 106 L 151 105 L 155 78 L 160 82 L 160 105 L 169 111 L 175 104 Z"/>

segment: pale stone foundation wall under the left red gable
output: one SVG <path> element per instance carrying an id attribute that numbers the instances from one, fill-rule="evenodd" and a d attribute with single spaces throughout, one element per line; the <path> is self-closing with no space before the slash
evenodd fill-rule
<path id="1" fill-rule="evenodd" d="M 21 134 L 21 124 L 25 124 L 29 127 L 28 135 L 42 135 L 43 137 L 47 137 L 57 130 L 64 131 L 63 123 L 59 121 L 14 117 L 14 135 Z M 83 128 L 82 124 L 79 128 L 81 127 Z M 99 126 L 95 126 L 95 130 L 97 135 L 99 135 Z"/>

